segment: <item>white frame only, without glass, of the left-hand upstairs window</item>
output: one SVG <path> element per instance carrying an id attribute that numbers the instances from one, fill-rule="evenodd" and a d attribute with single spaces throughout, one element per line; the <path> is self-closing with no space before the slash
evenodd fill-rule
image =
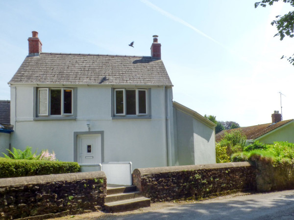
<path id="1" fill-rule="evenodd" d="M 59 89 L 61 90 L 61 114 L 58 115 L 51 115 L 50 113 L 50 90 L 51 89 Z M 46 114 L 40 114 L 39 108 L 40 108 L 40 90 L 47 90 L 47 113 Z M 63 113 L 64 112 L 64 90 L 71 90 L 72 91 L 72 113 Z M 73 115 L 73 88 L 37 88 L 37 116 L 51 116 L 51 117 L 60 117 L 60 116 L 72 116 Z"/>

